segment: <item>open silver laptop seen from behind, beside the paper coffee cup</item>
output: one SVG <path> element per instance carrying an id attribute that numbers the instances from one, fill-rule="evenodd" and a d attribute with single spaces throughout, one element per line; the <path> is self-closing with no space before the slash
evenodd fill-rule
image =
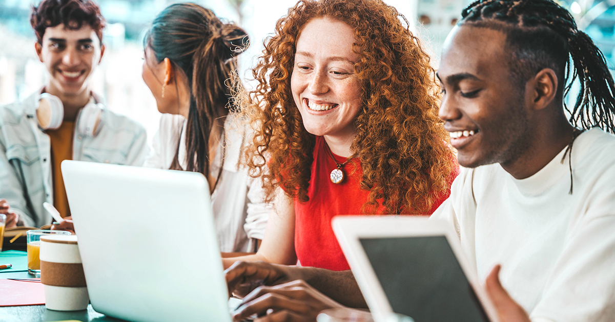
<path id="1" fill-rule="evenodd" d="M 63 161 L 62 175 L 97 312 L 231 322 L 202 174 Z"/>

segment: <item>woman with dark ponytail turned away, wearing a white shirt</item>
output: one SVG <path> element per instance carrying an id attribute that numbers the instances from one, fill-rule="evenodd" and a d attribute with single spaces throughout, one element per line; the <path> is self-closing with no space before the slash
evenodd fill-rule
<path id="1" fill-rule="evenodd" d="M 232 113 L 247 47 L 243 29 L 191 3 L 167 7 L 145 37 L 143 80 L 164 113 L 147 164 L 207 177 L 224 252 L 255 251 L 269 212 L 260 181 L 240 166 L 247 133 Z"/>

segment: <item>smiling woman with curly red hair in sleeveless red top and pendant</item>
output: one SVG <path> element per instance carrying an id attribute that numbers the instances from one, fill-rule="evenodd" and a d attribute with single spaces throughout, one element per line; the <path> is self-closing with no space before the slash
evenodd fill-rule
<path id="1" fill-rule="evenodd" d="M 394 7 L 300 1 L 277 21 L 253 75 L 249 166 L 278 216 L 256 255 L 226 258 L 226 267 L 240 259 L 347 270 L 335 215 L 429 215 L 448 197 L 457 167 L 434 70 Z"/>

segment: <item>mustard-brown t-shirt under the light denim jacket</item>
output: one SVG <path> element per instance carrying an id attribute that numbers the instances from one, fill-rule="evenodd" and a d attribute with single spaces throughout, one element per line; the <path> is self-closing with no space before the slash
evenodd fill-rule
<path id="1" fill-rule="evenodd" d="M 60 128 L 47 130 L 51 140 L 51 172 L 54 178 L 54 207 L 58 209 L 62 218 L 71 215 L 68 208 L 68 198 L 64 188 L 64 179 L 60 164 L 64 160 L 73 159 L 74 121 L 63 121 Z"/>

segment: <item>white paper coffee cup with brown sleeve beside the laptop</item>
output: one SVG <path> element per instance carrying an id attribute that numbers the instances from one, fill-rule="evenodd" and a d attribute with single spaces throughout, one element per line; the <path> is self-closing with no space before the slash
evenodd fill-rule
<path id="1" fill-rule="evenodd" d="M 41 237 L 41 283 L 49 310 L 85 310 L 90 302 L 77 236 Z"/>

